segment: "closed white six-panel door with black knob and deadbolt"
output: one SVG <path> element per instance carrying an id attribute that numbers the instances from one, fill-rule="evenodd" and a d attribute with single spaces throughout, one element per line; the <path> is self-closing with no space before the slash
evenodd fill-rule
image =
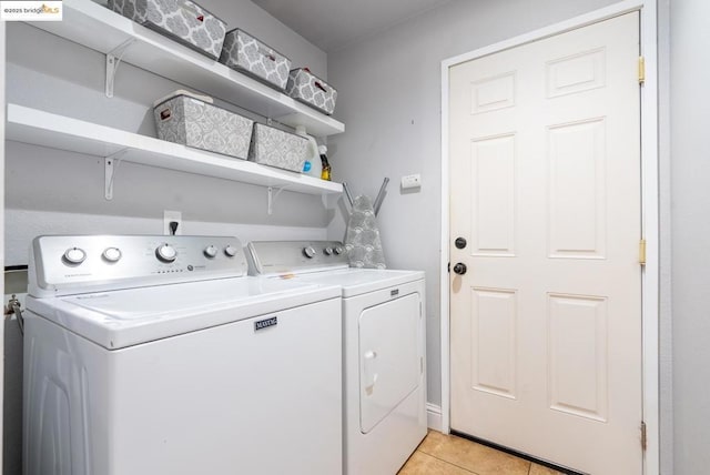
<path id="1" fill-rule="evenodd" d="M 599 475 L 642 472 L 638 26 L 450 69 L 452 428 Z"/>

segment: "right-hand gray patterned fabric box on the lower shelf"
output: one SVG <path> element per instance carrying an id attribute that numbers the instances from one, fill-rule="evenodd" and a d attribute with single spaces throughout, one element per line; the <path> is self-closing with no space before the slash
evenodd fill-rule
<path id="1" fill-rule="evenodd" d="M 306 161 L 308 140 L 263 123 L 254 123 L 248 159 L 264 165 L 301 173 Z"/>

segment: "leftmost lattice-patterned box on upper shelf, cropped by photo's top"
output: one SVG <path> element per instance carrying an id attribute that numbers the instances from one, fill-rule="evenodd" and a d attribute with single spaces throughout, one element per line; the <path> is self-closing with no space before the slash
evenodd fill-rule
<path id="1" fill-rule="evenodd" d="M 226 23 L 189 0 L 109 0 L 109 8 L 212 59 L 222 52 Z"/>

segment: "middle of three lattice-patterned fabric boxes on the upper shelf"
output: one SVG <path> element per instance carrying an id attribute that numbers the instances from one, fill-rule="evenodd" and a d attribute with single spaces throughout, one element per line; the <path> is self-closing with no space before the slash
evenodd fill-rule
<path id="1" fill-rule="evenodd" d="M 220 62 L 282 91 L 288 81 L 291 60 L 239 28 L 227 31 Z"/>

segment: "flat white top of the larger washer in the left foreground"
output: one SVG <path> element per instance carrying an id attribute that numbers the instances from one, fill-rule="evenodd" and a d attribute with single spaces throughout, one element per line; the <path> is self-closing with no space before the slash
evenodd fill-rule
<path id="1" fill-rule="evenodd" d="M 339 287 L 234 277 L 100 292 L 28 296 L 28 310 L 109 350 L 339 296 Z"/>

